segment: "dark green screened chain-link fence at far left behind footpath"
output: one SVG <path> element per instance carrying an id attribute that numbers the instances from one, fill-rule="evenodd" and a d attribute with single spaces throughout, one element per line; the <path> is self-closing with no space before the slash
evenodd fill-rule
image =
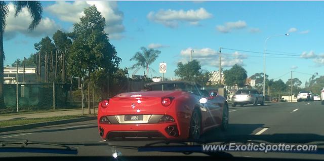
<path id="1" fill-rule="evenodd" d="M 68 89 L 68 84 L 4 84 L 0 113 L 68 108 Z"/>

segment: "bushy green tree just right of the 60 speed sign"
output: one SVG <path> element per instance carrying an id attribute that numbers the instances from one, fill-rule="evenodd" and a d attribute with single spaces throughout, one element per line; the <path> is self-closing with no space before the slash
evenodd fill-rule
<path id="1" fill-rule="evenodd" d="M 199 61 L 192 60 L 186 64 L 179 62 L 174 72 L 183 81 L 193 81 L 201 85 L 206 85 L 209 82 L 211 74 L 208 71 L 202 72 L 200 69 L 201 65 Z"/>

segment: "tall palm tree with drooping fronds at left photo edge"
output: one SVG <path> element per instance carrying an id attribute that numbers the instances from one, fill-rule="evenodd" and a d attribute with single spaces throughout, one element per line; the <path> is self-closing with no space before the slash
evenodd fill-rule
<path id="1" fill-rule="evenodd" d="M 28 27 L 28 30 L 33 30 L 39 22 L 42 20 L 43 8 L 42 4 L 38 1 L 18 1 L 14 2 L 16 12 L 15 17 L 22 11 L 23 8 L 27 8 L 32 18 L 32 21 Z M 4 41 L 3 36 L 6 28 L 6 18 L 8 16 L 8 4 L 4 1 L 0 2 L 0 106 L 5 106 L 4 101 Z"/>

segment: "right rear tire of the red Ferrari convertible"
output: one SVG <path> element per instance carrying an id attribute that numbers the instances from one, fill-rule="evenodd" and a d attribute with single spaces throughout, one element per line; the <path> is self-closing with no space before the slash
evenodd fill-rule
<path id="1" fill-rule="evenodd" d="M 195 108 L 191 115 L 189 125 L 189 140 L 199 141 L 201 133 L 201 115 L 197 108 Z"/>

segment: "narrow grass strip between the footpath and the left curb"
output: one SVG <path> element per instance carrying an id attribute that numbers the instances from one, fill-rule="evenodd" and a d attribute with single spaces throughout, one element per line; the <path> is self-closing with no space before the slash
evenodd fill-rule
<path id="1" fill-rule="evenodd" d="M 28 118 L 28 119 L 14 119 L 14 120 L 4 120 L 0 122 L 0 127 L 10 127 L 16 125 L 26 125 L 32 123 L 42 123 L 51 122 L 55 120 L 70 119 L 70 118 L 80 118 L 92 115 L 66 115 L 66 116 L 55 116 L 55 117 L 45 117 L 45 118 Z"/>

